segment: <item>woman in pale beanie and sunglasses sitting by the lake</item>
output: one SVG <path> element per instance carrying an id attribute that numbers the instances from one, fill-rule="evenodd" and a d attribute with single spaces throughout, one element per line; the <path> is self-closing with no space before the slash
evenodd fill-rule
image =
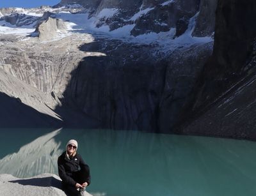
<path id="1" fill-rule="evenodd" d="M 58 172 L 64 192 L 70 196 L 83 195 L 90 185 L 90 169 L 77 153 L 77 141 L 69 140 L 66 151 L 58 158 Z"/>

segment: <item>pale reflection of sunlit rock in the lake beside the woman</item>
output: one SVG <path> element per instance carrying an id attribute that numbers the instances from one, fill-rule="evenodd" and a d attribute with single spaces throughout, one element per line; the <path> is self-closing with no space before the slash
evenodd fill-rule
<path id="1" fill-rule="evenodd" d="M 61 143 L 56 142 L 54 137 L 59 133 L 60 130 L 47 133 L 20 147 L 17 153 L 5 156 L 0 160 L 0 173 L 16 177 L 35 176 L 46 172 L 56 174 L 56 159 L 61 153 Z M 9 142 L 9 145 L 12 145 L 12 142 Z"/>

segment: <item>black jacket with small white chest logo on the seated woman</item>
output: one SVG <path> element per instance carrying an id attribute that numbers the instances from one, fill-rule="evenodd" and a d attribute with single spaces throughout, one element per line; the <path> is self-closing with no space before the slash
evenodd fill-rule
<path id="1" fill-rule="evenodd" d="M 86 182 L 90 185 L 90 169 L 89 166 L 84 163 L 81 155 L 76 153 L 72 159 L 68 159 L 66 152 L 62 153 L 58 158 L 58 172 L 62 179 L 62 182 L 67 185 L 76 185 L 75 174 L 79 170 L 83 169 L 86 173 Z"/>

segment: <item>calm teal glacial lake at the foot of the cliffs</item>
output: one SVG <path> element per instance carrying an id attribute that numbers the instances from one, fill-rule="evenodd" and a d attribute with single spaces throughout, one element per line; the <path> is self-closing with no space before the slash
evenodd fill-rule
<path id="1" fill-rule="evenodd" d="M 58 174 L 58 156 L 76 139 L 90 165 L 91 193 L 256 195 L 256 142 L 112 130 L 0 132 L 0 174 Z"/>

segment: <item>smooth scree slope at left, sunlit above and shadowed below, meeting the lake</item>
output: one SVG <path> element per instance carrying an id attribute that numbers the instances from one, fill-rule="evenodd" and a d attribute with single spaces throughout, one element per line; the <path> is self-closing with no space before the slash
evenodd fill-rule
<path id="1" fill-rule="evenodd" d="M 29 86 L 1 68 L 0 92 L 2 128 L 55 127 L 60 124 L 60 117 L 52 111 L 58 102 L 51 95 Z"/>

